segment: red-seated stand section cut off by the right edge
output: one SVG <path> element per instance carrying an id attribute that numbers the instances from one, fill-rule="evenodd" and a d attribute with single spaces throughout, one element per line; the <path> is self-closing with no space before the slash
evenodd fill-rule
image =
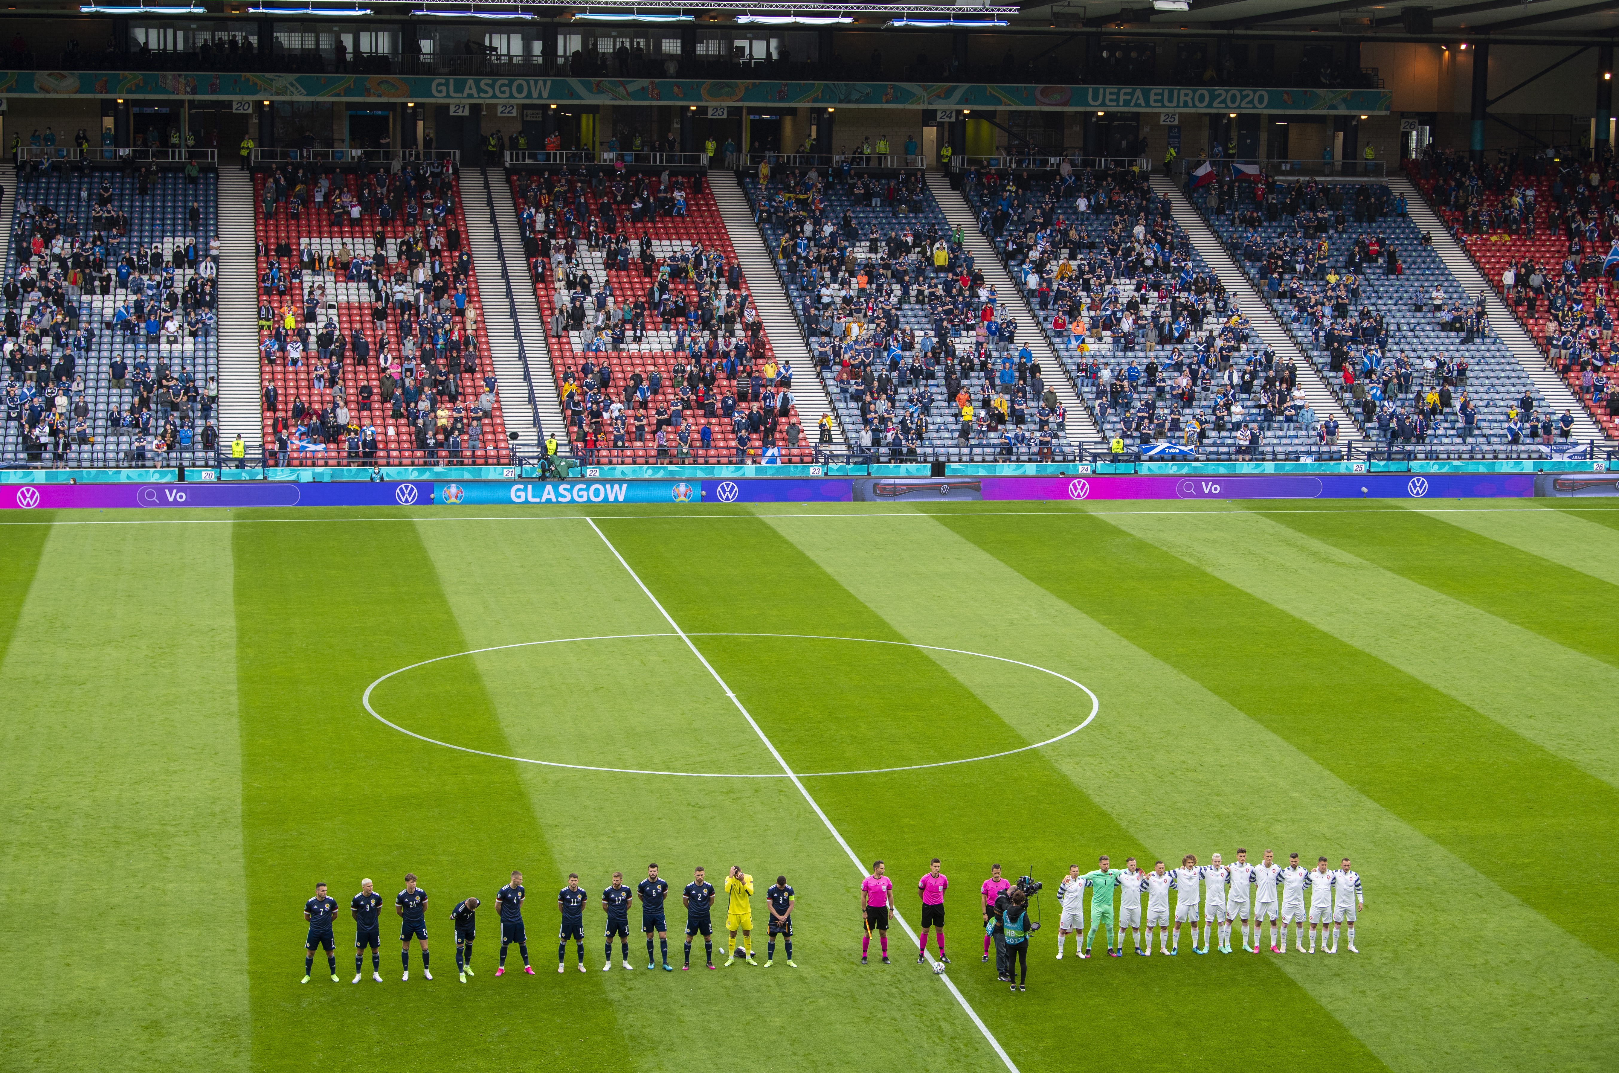
<path id="1" fill-rule="evenodd" d="M 1507 303 L 1587 413 L 1619 435 L 1613 364 L 1613 256 L 1619 214 L 1614 172 L 1545 155 L 1498 160 L 1481 172 L 1430 152 L 1407 176 Z"/>

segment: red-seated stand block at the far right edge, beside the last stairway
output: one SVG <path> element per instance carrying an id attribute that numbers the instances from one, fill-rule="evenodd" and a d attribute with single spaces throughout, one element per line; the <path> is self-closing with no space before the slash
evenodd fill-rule
<path id="1" fill-rule="evenodd" d="M 1454 159 L 1430 160 L 1425 165 L 1409 160 L 1407 173 L 1423 191 L 1434 212 L 1451 225 L 1462 248 L 1478 265 L 1480 274 L 1502 296 L 1519 322 L 1541 346 L 1557 372 L 1575 392 L 1587 411 L 1609 437 L 1619 435 L 1619 395 L 1608 392 L 1611 375 L 1603 369 L 1611 361 L 1609 338 L 1595 324 L 1596 335 L 1582 340 L 1590 353 L 1564 353 L 1559 338 L 1556 304 L 1572 307 L 1575 298 L 1593 319 L 1598 309 L 1606 309 L 1609 322 L 1616 316 L 1616 299 L 1611 280 L 1604 278 L 1603 264 L 1611 246 L 1611 228 L 1590 236 L 1579 228 L 1570 233 L 1567 222 L 1559 225 L 1561 181 L 1569 191 L 1569 202 L 1580 199 L 1583 176 L 1577 167 L 1566 172 L 1551 162 L 1535 159 L 1536 170 L 1507 170 L 1504 165 L 1486 168 L 1485 175 L 1470 173 L 1470 167 Z M 1593 202 L 1583 202 L 1591 207 Z M 1575 204 L 1579 207 L 1579 204 Z M 1583 215 L 1583 212 L 1582 212 Z M 1514 288 L 1502 283 L 1502 274 L 1514 269 Z M 1540 270 L 1545 275 L 1545 291 L 1528 291 L 1530 277 Z M 1562 291 L 1559 303 L 1553 293 Z M 1557 330 L 1554 330 L 1557 329 Z M 1579 335 L 1579 330 L 1570 335 Z M 1557 346 L 1553 346 L 1557 343 Z M 1572 350 L 1572 348 L 1570 348 Z"/>

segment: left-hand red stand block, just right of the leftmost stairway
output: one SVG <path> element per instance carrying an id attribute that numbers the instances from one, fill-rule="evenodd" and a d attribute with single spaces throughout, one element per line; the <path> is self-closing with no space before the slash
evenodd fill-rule
<path id="1" fill-rule="evenodd" d="M 508 463 L 453 165 L 288 165 L 254 189 L 266 455 Z"/>

